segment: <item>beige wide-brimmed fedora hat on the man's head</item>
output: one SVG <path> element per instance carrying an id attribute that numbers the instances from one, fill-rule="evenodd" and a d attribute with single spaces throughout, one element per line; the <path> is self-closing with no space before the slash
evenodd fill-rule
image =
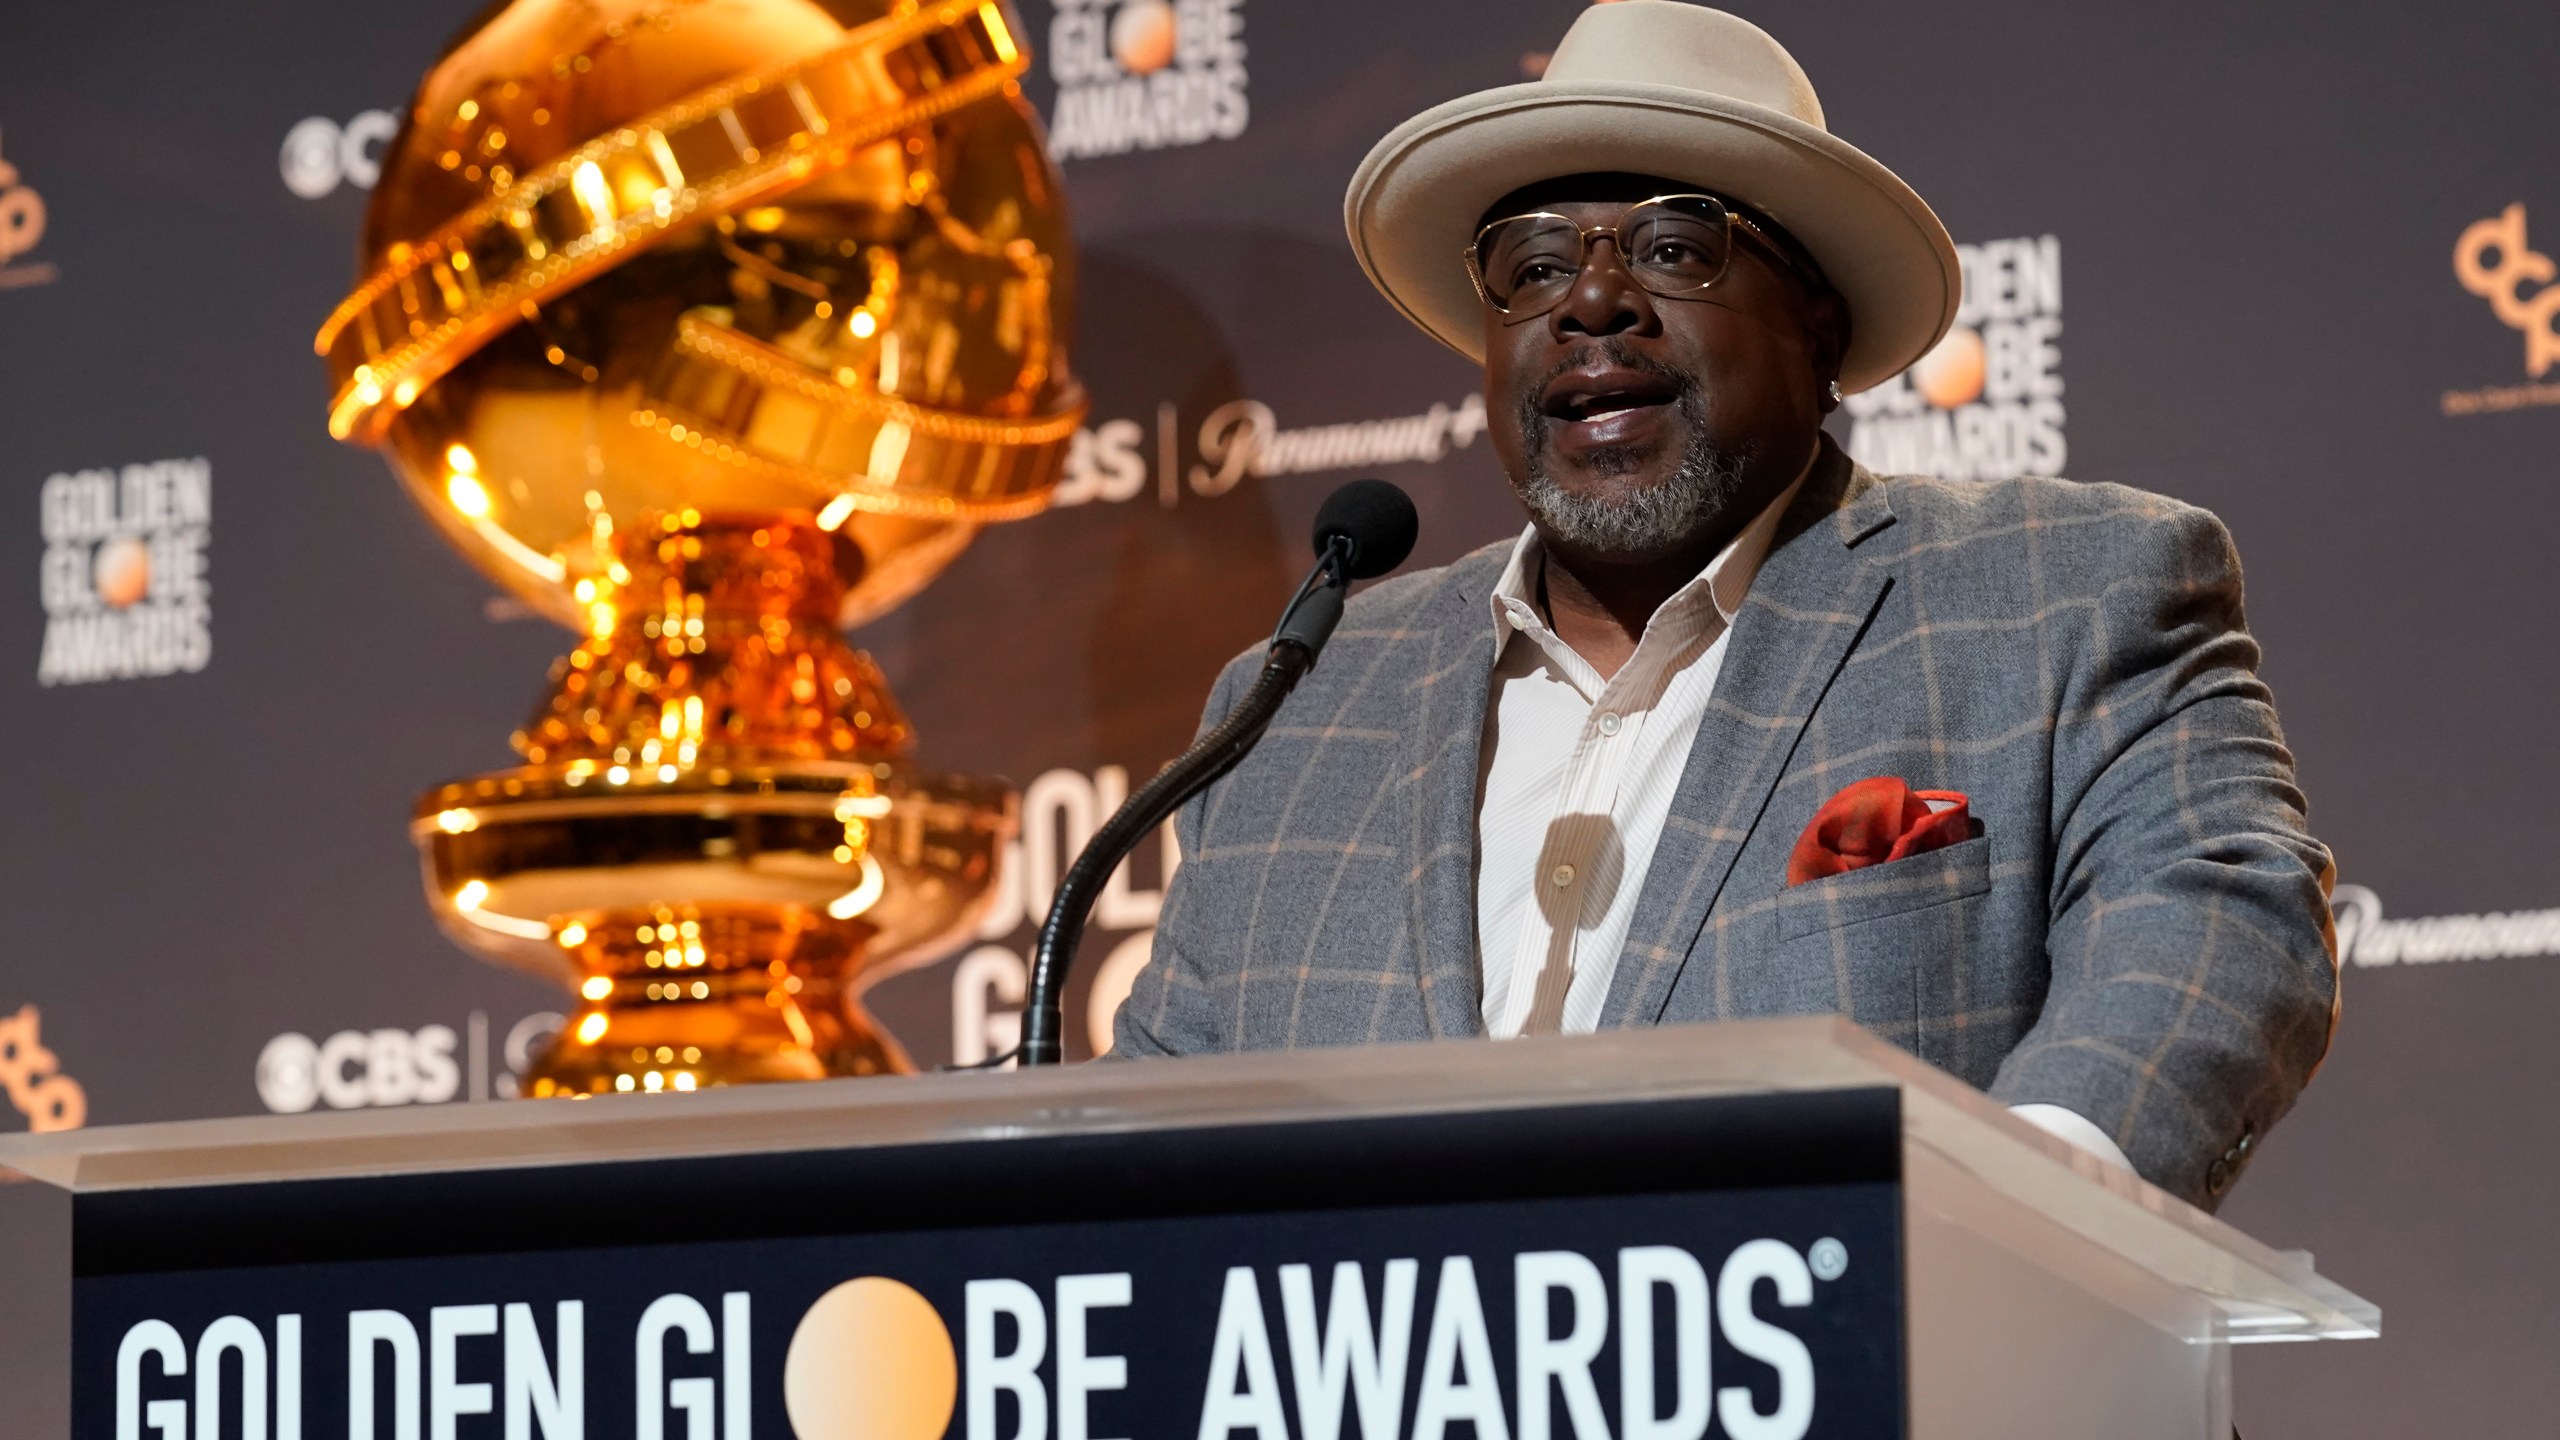
<path id="1" fill-rule="evenodd" d="M 1341 200 L 1370 282 L 1431 338 L 1485 359 L 1459 256 L 1485 208 L 1587 172 L 1702 184 L 1784 225 L 1848 302 L 1841 389 L 1892 379 L 1956 320 L 1964 277 L 1910 184 L 1823 128 L 1766 31 L 1684 0 L 1592 5 L 1546 77 L 1434 105 L 1377 141 Z"/>

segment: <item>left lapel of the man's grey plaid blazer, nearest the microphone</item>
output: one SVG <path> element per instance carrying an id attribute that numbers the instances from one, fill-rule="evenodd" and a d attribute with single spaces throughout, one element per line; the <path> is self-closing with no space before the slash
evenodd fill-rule
<path id="1" fill-rule="evenodd" d="M 1475 781 L 1500 633 L 1485 600 L 1505 546 L 1459 561 L 1452 584 L 1416 615 L 1421 674 L 1408 689 L 1411 787 L 1405 871 L 1416 984 L 1434 1038 L 1485 1033 L 1485 976 L 1475 961 Z"/>

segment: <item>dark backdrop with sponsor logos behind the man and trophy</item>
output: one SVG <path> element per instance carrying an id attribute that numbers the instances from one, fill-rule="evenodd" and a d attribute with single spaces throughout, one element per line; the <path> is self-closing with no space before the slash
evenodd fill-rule
<path id="1" fill-rule="evenodd" d="M 983 943 L 873 997 L 919 1061 L 1009 1043 L 1024 915 L 1270 625 L 1326 489 L 1411 489 L 1413 564 L 1518 528 L 1477 377 L 1362 282 L 1341 187 L 1408 113 L 1533 74 L 1580 3 L 1027 3 L 1093 418 L 1057 510 L 858 635 L 927 761 L 1027 794 Z M 1841 438 L 2161 489 L 2248 559 L 2348 976 L 2227 1217 L 2388 1332 L 2245 1353 L 2245 1430 L 2547 1430 L 2547 3 L 1741 8 L 1966 246 L 1956 346 Z M 0 5 L 0 1127 L 494 1102 L 561 1007 L 430 928 L 404 815 L 509 761 L 568 635 L 328 438 L 310 354 L 392 115 L 468 10 Z M 1162 874 L 1149 848 L 1088 974 L 1144 956 Z M 8 1435 L 64 1427 L 61 1222 L 0 1186 Z"/>

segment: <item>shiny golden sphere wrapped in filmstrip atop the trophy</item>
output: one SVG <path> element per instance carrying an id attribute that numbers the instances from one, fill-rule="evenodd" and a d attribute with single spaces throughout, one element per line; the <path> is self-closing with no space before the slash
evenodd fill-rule
<path id="1" fill-rule="evenodd" d="M 494 8 L 384 156 L 333 433 L 568 625 L 599 518 L 686 507 L 827 520 L 845 620 L 886 610 L 1039 510 L 1083 413 L 1014 36 L 975 0 Z"/>

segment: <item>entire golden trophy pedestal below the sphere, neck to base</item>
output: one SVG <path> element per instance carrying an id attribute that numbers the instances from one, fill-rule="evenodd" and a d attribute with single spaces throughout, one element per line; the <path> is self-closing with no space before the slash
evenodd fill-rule
<path id="1" fill-rule="evenodd" d="M 1014 794 L 901 758 L 806 520 L 668 515 L 607 574 L 532 764 L 412 817 L 445 930 L 584 1002 L 525 1092 L 909 1071 L 858 994 L 968 935 Z"/>

